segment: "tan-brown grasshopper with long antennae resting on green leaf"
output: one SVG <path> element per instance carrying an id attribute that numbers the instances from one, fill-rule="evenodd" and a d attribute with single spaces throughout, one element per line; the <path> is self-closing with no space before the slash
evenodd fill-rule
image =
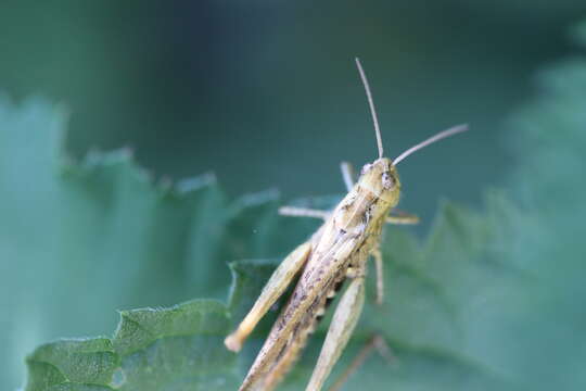
<path id="1" fill-rule="evenodd" d="M 356 65 L 362 80 L 374 124 L 379 157 L 366 164 L 353 182 L 352 167 L 342 163 L 348 193 L 333 211 L 284 206 L 281 214 L 323 218 L 323 225 L 298 245 L 278 266 L 250 313 L 229 335 L 226 346 L 240 351 L 242 343 L 260 318 L 298 277 L 289 302 L 277 318 L 240 391 L 270 391 L 289 371 L 316 329 L 327 305 L 348 280 L 321 348 L 307 391 L 321 390 L 357 324 L 365 301 L 367 262 L 374 258 L 377 302 L 383 301 L 383 260 L 380 251 L 382 228 L 386 223 L 415 224 L 412 215 L 391 215 L 400 195 L 396 165 L 415 151 L 440 139 L 464 131 L 466 125 L 453 127 L 420 142 L 396 159 L 383 156 L 383 147 L 372 94 L 360 61 Z M 358 366 L 353 365 L 354 367 Z"/>

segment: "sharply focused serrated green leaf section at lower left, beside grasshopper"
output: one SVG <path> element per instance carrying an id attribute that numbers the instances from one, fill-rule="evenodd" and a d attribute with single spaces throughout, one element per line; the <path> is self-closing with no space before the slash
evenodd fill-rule
<path id="1" fill-rule="evenodd" d="M 58 341 L 27 358 L 27 390 L 218 390 L 237 386 L 224 304 L 196 300 L 122 314 L 111 340 Z M 231 375 L 231 376 L 230 376 Z"/>

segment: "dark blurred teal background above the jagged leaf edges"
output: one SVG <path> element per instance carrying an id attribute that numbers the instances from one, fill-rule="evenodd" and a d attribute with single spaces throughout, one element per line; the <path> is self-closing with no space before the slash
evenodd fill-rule
<path id="1" fill-rule="evenodd" d="M 293 199 L 341 192 L 340 161 L 375 157 L 358 55 L 391 157 L 471 125 L 402 164 L 402 209 L 425 231 L 440 199 L 477 205 L 502 185 L 514 162 L 504 122 L 536 92 L 537 70 L 575 51 L 569 26 L 584 15 L 570 0 L 7 0 L 0 90 L 63 102 L 77 159 L 129 147 L 162 180 L 214 172 L 233 197 Z"/>

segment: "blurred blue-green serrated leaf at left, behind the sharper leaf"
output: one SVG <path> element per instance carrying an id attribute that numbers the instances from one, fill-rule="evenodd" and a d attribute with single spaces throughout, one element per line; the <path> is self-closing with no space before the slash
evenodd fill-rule
<path id="1" fill-rule="evenodd" d="M 230 261 L 282 255 L 316 224 L 275 214 L 275 191 L 229 201 L 212 175 L 154 182 L 128 150 L 73 162 L 65 123 L 0 99 L 2 389 L 36 345 L 111 332 L 118 308 L 226 299 Z"/>

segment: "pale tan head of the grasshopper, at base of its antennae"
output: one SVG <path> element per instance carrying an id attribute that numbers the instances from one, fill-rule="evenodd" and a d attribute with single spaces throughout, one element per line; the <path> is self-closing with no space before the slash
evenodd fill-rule
<path id="1" fill-rule="evenodd" d="M 360 173 L 358 186 L 394 207 L 398 203 L 400 181 L 397 168 L 390 159 L 380 157 L 366 164 Z"/>

